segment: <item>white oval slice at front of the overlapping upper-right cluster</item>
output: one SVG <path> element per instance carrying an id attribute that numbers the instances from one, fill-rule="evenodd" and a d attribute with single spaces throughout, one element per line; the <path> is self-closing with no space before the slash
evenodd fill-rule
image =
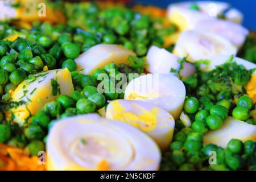
<path id="1" fill-rule="evenodd" d="M 188 60 L 209 60 L 216 55 L 236 55 L 237 47 L 218 34 L 209 31 L 188 30 L 181 32 L 173 53 Z"/>

